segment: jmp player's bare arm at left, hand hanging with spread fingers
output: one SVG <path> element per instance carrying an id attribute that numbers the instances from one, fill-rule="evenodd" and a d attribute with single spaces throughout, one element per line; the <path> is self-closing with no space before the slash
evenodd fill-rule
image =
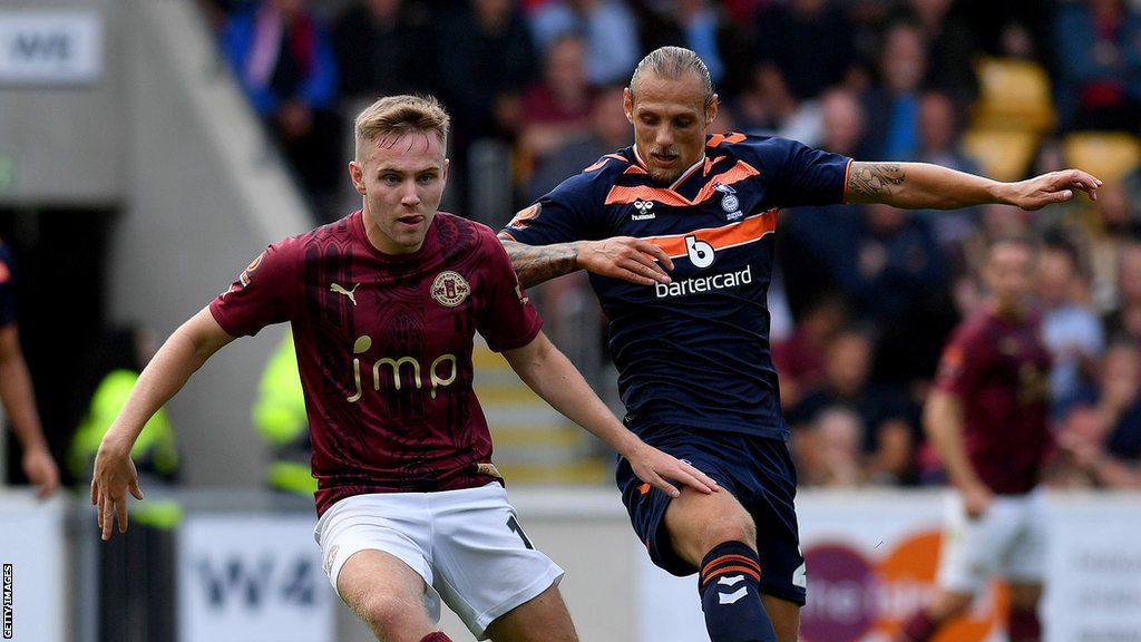
<path id="1" fill-rule="evenodd" d="M 209 307 L 183 323 L 170 335 L 154 359 L 139 375 L 127 403 L 107 428 L 95 456 L 91 475 L 91 504 L 98 506 L 103 539 L 111 539 L 111 527 L 119 517 L 119 532 L 127 531 L 127 491 L 143 499 L 138 473 L 131 463 L 131 447 L 151 416 L 175 396 L 210 355 L 234 340 L 215 321 Z"/>

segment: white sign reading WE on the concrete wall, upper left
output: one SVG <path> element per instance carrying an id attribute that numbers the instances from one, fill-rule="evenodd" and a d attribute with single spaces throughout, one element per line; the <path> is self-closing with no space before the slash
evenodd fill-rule
<path id="1" fill-rule="evenodd" d="M 89 85 L 103 73 L 94 10 L 0 9 L 0 85 Z"/>

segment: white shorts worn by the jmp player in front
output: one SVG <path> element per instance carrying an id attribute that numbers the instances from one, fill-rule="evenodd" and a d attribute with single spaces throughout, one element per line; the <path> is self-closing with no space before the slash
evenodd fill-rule
<path id="1" fill-rule="evenodd" d="M 428 585 L 424 607 L 439 621 L 440 599 L 477 640 L 495 618 L 563 579 L 534 549 L 507 491 L 496 482 L 439 492 L 357 495 L 333 504 L 314 529 L 333 591 L 358 551 L 388 553 Z"/>

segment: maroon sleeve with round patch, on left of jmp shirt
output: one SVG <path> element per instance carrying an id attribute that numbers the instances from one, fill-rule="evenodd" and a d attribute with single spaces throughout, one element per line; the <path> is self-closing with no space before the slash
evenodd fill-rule
<path id="1" fill-rule="evenodd" d="M 254 258 L 210 304 L 222 330 L 235 337 L 253 336 L 266 326 L 292 319 L 300 292 L 300 259 L 288 240 L 269 246 Z"/>

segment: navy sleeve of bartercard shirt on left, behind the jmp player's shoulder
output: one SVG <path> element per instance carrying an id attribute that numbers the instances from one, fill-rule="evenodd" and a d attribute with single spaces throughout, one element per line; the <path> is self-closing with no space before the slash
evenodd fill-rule
<path id="1" fill-rule="evenodd" d="M 500 232 L 512 241 L 528 246 L 549 246 L 593 239 L 591 210 L 601 211 L 602 203 L 592 208 L 588 174 L 572 176 L 531 207 L 519 211 Z"/>

